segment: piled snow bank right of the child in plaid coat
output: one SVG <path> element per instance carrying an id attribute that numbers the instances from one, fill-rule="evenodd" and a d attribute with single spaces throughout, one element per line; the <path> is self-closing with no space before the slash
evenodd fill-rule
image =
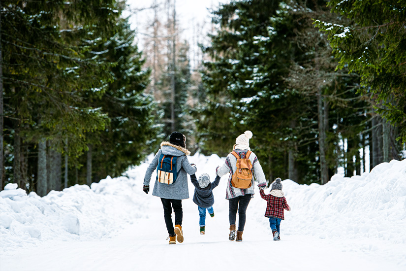
<path id="1" fill-rule="evenodd" d="M 289 179 L 282 185 L 292 207 L 281 224 L 284 234 L 406 243 L 406 160 L 382 163 L 361 176 L 336 174 L 325 185 Z"/>

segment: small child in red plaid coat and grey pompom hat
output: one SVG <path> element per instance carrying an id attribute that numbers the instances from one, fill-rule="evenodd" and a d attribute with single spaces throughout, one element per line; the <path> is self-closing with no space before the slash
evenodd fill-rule
<path id="1" fill-rule="evenodd" d="M 281 221 L 284 219 L 283 209 L 290 211 L 289 205 L 283 196 L 281 178 L 276 178 L 271 184 L 271 192 L 265 195 L 263 189 L 259 189 L 261 198 L 267 201 L 265 216 L 269 217 L 269 227 L 272 229 L 274 241 L 281 240 L 279 237 Z"/>

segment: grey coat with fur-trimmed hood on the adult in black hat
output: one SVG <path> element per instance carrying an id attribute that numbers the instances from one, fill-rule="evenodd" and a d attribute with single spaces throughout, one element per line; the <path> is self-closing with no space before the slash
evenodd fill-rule
<path id="1" fill-rule="evenodd" d="M 176 171 L 179 173 L 176 181 L 172 184 L 160 183 L 156 181 L 156 173 L 153 174 L 154 171 L 156 172 L 158 159 L 161 153 L 164 155 L 173 155 L 178 157 L 176 161 Z M 144 185 L 150 185 L 151 176 L 155 179 L 154 190 L 152 192 L 153 196 L 171 200 L 186 200 L 189 198 L 187 174 L 194 174 L 196 172 L 196 167 L 189 164 L 187 155 L 190 155 L 190 152 L 181 146 L 177 146 L 166 141 L 161 143 L 161 148 L 158 150 L 151 164 L 148 166 L 144 177 Z"/>

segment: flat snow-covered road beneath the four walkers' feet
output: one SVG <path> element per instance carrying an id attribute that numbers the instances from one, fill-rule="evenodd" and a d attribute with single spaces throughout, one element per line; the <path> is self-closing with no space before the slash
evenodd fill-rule
<path id="1" fill-rule="evenodd" d="M 396 249 L 385 241 L 330 240 L 283 235 L 283 231 L 282 240 L 273 241 L 270 234 L 264 234 L 266 218 L 260 225 L 253 219 L 247 221 L 243 242 L 229 241 L 228 213 L 224 209 L 215 210 L 215 217 L 206 218 L 206 235 L 201 236 L 197 208 L 191 200 L 184 203 L 185 241 L 168 245 L 161 203 L 155 197 L 147 199 L 149 218 L 138 219 L 118 236 L 97 241 L 47 241 L 37 247 L 17 250 L 12 255 L 1 255 L 0 269 L 321 271 L 405 268 L 405 265 L 398 265 L 396 259 L 381 255 L 380 251 Z M 257 197 L 255 200 L 262 199 Z M 222 204 L 226 204 L 225 200 Z M 252 216 L 248 211 L 249 218 L 250 213 Z M 371 252 L 370 245 L 378 249 Z M 362 251 L 363 246 L 366 252 Z M 398 246 L 406 251 L 404 245 Z"/>

